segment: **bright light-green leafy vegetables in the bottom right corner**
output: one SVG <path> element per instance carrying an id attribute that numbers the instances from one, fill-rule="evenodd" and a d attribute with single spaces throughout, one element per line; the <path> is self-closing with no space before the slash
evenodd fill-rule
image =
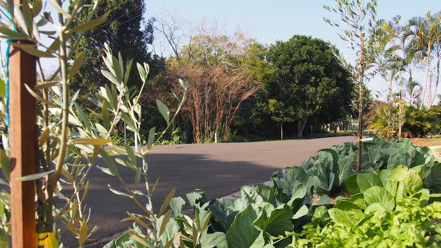
<path id="1" fill-rule="evenodd" d="M 334 208 L 315 215 L 303 238 L 289 247 L 437 247 L 441 241 L 434 222 L 441 218 L 441 202 L 429 203 L 430 192 L 416 171 L 399 165 L 379 175 L 357 174 L 346 188 L 352 196 L 338 197 Z"/>

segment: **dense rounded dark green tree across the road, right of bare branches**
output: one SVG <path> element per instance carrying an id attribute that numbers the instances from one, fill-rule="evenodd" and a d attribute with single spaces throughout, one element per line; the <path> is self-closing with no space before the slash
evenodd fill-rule
<path id="1" fill-rule="evenodd" d="M 281 113 L 277 112 L 280 108 L 270 108 L 274 110 L 272 114 L 283 116 L 283 120 L 296 120 L 299 137 L 310 119 L 329 123 L 346 115 L 353 83 L 328 43 L 295 35 L 273 44 L 268 60 L 276 70 L 274 80 L 264 85 L 268 99 L 291 109 Z"/>

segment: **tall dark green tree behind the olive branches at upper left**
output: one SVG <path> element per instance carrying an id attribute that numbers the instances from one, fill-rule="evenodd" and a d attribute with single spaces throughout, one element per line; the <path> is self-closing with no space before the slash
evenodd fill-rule
<path id="1" fill-rule="evenodd" d="M 70 1 L 69 9 L 73 9 L 76 0 Z M 91 4 L 91 0 L 85 0 L 84 6 Z M 78 17 L 85 19 L 89 16 L 90 8 L 83 7 Z M 82 66 L 71 80 L 70 86 L 73 91 L 80 89 L 79 102 L 83 107 L 92 107 L 87 99 L 94 96 L 99 86 L 103 86 L 105 80 L 101 74 L 104 68 L 102 55 L 104 43 L 109 45 L 113 52 L 121 52 L 122 58 L 128 63 L 133 59 L 134 63 L 147 62 L 151 66 L 151 56 L 147 51 L 147 45 L 153 41 L 153 19 L 144 20 L 145 5 L 142 0 L 102 0 L 96 11 L 96 18 L 109 12 L 107 20 L 97 28 L 87 31 L 80 41 L 74 57 L 83 50 L 87 51 Z M 75 25 L 75 24 L 73 24 Z M 73 41 L 76 36 L 73 35 Z M 141 80 L 132 70 L 129 86 L 141 85 Z M 155 74 L 155 72 L 149 75 Z"/>

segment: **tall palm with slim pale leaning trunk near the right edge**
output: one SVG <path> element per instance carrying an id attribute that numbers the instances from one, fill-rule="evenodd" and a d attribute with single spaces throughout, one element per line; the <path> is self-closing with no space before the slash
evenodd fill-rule
<path id="1" fill-rule="evenodd" d="M 422 53 L 426 58 L 426 82 L 424 84 L 420 109 L 423 108 L 423 102 L 427 91 L 431 52 L 434 44 L 439 40 L 439 36 L 441 35 L 440 21 L 441 11 L 434 15 L 430 15 L 429 11 L 425 17 L 413 17 L 409 19 L 403 33 L 403 40 L 410 39 L 408 49 L 415 49 Z"/>

